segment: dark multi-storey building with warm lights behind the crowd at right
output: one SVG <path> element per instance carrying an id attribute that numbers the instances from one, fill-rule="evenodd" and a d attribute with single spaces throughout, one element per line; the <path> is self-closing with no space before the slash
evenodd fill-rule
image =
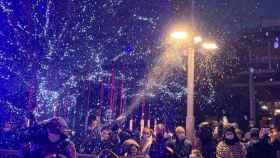
<path id="1" fill-rule="evenodd" d="M 280 25 L 247 29 L 231 42 L 237 71 L 230 87 L 248 94 L 251 124 L 280 114 Z"/>

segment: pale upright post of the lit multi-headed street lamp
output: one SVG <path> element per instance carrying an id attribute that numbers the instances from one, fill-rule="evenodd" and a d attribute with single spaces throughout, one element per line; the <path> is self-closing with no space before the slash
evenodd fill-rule
<path id="1" fill-rule="evenodd" d="M 186 116 L 186 134 L 193 138 L 194 132 L 194 48 L 189 48 L 187 63 L 187 116 Z"/>

